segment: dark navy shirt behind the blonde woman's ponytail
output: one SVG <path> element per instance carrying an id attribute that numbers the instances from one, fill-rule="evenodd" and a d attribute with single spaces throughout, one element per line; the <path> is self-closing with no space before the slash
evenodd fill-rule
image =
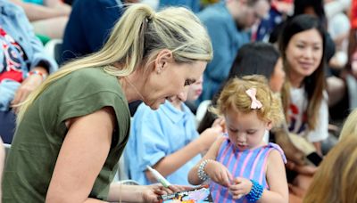
<path id="1" fill-rule="evenodd" d="M 121 14 L 120 0 L 76 0 L 63 35 L 61 63 L 98 51 Z"/>

